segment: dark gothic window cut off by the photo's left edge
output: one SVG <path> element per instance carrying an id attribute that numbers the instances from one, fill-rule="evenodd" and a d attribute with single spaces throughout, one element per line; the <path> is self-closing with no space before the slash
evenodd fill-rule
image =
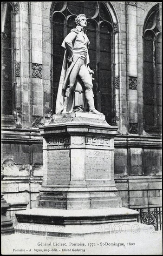
<path id="1" fill-rule="evenodd" d="M 2 115 L 13 110 L 13 7 L 2 3 Z"/>

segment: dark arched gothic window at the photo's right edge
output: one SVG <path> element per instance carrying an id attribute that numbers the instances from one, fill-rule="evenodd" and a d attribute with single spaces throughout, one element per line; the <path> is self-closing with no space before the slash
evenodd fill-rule
<path id="1" fill-rule="evenodd" d="M 161 127 L 161 21 L 156 5 L 145 22 L 144 45 L 144 125 L 146 130 Z"/>

